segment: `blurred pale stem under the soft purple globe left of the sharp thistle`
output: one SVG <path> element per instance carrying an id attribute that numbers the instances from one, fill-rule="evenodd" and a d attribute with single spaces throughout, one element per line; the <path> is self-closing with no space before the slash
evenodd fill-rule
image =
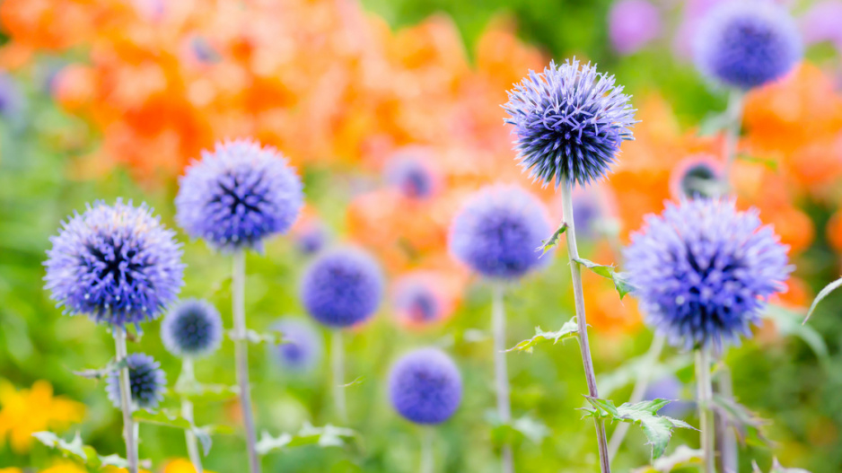
<path id="1" fill-rule="evenodd" d="M 503 285 L 495 284 L 491 299 L 491 332 L 494 337 L 494 373 L 497 391 L 497 416 L 503 423 L 512 420 L 512 405 L 509 400 L 509 373 L 505 363 L 505 307 Z M 514 471 L 512 446 L 505 444 L 501 451 L 503 472 Z"/>

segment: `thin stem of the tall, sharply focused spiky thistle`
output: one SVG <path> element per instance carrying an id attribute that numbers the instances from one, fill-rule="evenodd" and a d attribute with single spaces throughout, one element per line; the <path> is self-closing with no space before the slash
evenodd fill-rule
<path id="1" fill-rule="evenodd" d="M 582 352 L 582 363 L 584 365 L 584 377 L 588 383 L 588 395 L 592 398 L 599 398 L 596 389 L 596 374 L 593 372 L 591 360 L 591 346 L 588 342 L 588 321 L 584 315 L 584 294 L 582 290 L 582 272 L 579 264 L 575 261 L 579 258 L 579 250 L 576 247 L 576 228 L 573 218 L 573 186 L 566 182 L 562 187 L 562 200 L 564 201 L 564 218 L 567 223 L 567 256 L 570 259 L 570 275 L 573 280 L 573 295 L 576 304 L 576 321 L 579 336 L 579 349 Z M 596 424 L 596 437 L 600 449 L 600 467 L 602 473 L 609 473 L 611 465 L 608 454 L 608 442 L 605 435 L 605 422 L 602 419 L 594 419 Z"/>

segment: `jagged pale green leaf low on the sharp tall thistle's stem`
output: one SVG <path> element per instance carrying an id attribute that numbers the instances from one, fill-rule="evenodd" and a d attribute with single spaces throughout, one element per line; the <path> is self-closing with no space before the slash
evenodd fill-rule
<path id="1" fill-rule="evenodd" d="M 670 404 L 670 399 L 645 400 L 635 404 L 626 403 L 619 407 L 615 407 L 614 401 L 610 399 L 597 399 L 590 396 L 585 396 L 585 399 L 592 406 L 582 408 L 588 413 L 587 416 L 639 425 L 644 431 L 646 438 L 649 439 L 649 442 L 646 444 L 652 445 L 653 460 L 663 455 L 663 451 L 667 448 L 667 443 L 670 442 L 673 428 L 680 427 L 696 430 L 692 425 L 689 425 L 683 420 L 657 415 L 662 407 Z"/>

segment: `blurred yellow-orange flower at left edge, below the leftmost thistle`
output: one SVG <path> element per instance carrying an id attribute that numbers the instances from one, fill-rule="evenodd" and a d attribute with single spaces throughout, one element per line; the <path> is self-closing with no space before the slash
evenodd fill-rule
<path id="1" fill-rule="evenodd" d="M 65 429 L 83 416 L 82 403 L 53 397 L 47 381 L 35 381 L 30 390 L 16 390 L 9 381 L 0 380 L 0 443 L 8 435 L 16 453 L 30 450 L 32 434 Z"/>

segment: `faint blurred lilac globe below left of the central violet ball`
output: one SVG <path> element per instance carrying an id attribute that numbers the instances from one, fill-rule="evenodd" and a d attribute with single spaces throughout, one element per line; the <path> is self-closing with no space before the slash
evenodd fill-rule
<path id="1" fill-rule="evenodd" d="M 319 364 L 324 349 L 321 335 L 301 319 L 285 317 L 272 328 L 281 332 L 284 343 L 275 346 L 277 360 L 296 372 L 307 372 Z"/>

